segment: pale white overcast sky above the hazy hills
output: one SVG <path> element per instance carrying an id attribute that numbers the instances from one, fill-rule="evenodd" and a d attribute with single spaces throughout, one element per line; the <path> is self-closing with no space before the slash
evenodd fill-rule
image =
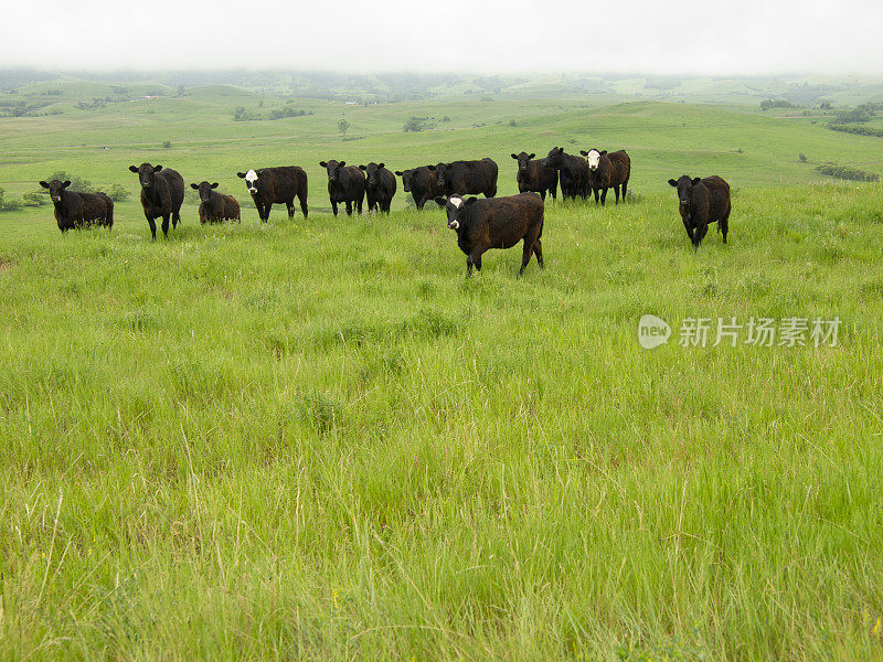
<path id="1" fill-rule="evenodd" d="M 880 0 L 15 0 L 0 67 L 883 73 Z"/>

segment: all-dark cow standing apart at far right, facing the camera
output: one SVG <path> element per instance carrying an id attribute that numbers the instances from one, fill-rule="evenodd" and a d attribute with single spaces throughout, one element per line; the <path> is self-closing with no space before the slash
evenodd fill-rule
<path id="1" fill-rule="evenodd" d="M 690 179 L 683 174 L 678 180 L 669 180 L 678 189 L 678 210 L 681 213 L 687 236 L 693 243 L 693 250 L 709 231 L 710 223 L 717 223 L 717 231 L 724 235 L 730 229 L 730 184 L 720 177 Z"/>

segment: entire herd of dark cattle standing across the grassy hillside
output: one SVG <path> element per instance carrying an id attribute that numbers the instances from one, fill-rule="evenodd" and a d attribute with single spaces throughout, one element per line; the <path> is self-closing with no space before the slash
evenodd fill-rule
<path id="1" fill-rule="evenodd" d="M 583 158 L 565 153 L 561 147 L 553 148 L 544 159 L 536 159 L 533 153 L 513 153 L 512 158 L 518 161 L 520 193 L 506 197 L 494 197 L 499 169 L 492 159 L 423 166 L 395 174 L 402 178 L 402 185 L 412 194 L 417 209 L 422 210 L 429 201 L 445 209 L 448 227 L 457 233 L 457 244 L 467 255 L 467 274 L 471 274 L 474 266 L 481 269 L 481 256 L 488 249 L 511 248 L 523 241 L 520 276 L 531 255 L 536 256 L 540 267 L 543 266 L 541 237 L 545 196 L 549 193 L 556 200 L 558 183 L 564 200 L 588 199 L 594 194 L 595 203 L 603 205 L 607 191 L 613 189 L 617 204 L 620 196 L 626 201 L 631 177 L 628 154 L 623 150 L 608 153 L 597 149 L 579 153 Z M 331 160 L 321 161 L 320 166 L 328 172 L 328 194 L 334 215 L 339 204 L 345 205 L 348 215 L 353 207 L 361 214 L 365 197 L 369 212 L 390 212 L 396 179 L 384 163 L 355 167 Z M 181 220 L 183 178 L 170 168 L 150 163 L 130 166 L 129 170 L 138 174 L 141 206 L 153 239 L 158 218 L 162 220 L 162 233 L 168 236 L 169 223 L 178 227 Z M 307 173 L 302 168 L 262 168 L 236 174 L 245 180 L 262 221 L 269 220 L 270 207 L 278 203 L 285 203 L 288 216 L 294 217 L 295 199 L 307 217 Z M 717 223 L 726 243 L 730 185 L 720 177 L 699 179 L 685 174 L 669 180 L 669 184 L 678 191 L 679 212 L 693 249 L 699 248 L 711 223 Z M 104 193 L 68 191 L 70 181 L 41 181 L 40 185 L 49 189 L 62 232 L 89 225 L 114 225 L 114 202 Z M 241 218 L 238 202 L 219 193 L 216 182 L 190 185 L 199 192 L 201 223 Z M 464 197 L 477 194 L 483 194 L 485 200 Z"/>

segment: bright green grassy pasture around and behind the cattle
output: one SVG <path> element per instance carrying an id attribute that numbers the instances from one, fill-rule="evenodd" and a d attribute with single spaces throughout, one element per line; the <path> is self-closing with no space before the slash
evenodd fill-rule
<path id="1" fill-rule="evenodd" d="M 244 202 L 236 170 L 297 163 L 312 210 L 188 203 L 156 243 L 137 202 L 111 233 L 0 214 L 0 659 L 883 659 L 883 189 L 797 161 L 880 172 L 879 139 L 592 99 L 234 122 L 256 98 L 0 120 L 8 194 L 58 169 L 135 193 L 148 160 Z M 509 193 L 509 152 L 553 145 L 627 148 L 637 195 L 547 204 L 520 280 L 518 249 L 466 279 L 401 192 L 327 213 L 322 158 L 491 156 Z M 684 171 L 733 184 L 727 246 L 693 254 Z M 668 345 L 639 346 L 645 313 Z M 842 327 L 680 346 L 698 317 Z"/>

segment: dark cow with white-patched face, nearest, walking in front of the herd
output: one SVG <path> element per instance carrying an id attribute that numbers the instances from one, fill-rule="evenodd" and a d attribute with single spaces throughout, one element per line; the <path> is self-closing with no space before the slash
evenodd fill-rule
<path id="1" fill-rule="evenodd" d="M 436 197 L 445 206 L 448 227 L 457 233 L 457 245 L 466 254 L 466 275 L 472 275 L 472 265 L 481 270 L 481 255 L 489 248 L 511 248 L 524 241 L 521 269 L 536 255 L 543 267 L 543 201 L 535 193 L 521 193 L 493 200 L 464 200 L 459 195 Z"/>

